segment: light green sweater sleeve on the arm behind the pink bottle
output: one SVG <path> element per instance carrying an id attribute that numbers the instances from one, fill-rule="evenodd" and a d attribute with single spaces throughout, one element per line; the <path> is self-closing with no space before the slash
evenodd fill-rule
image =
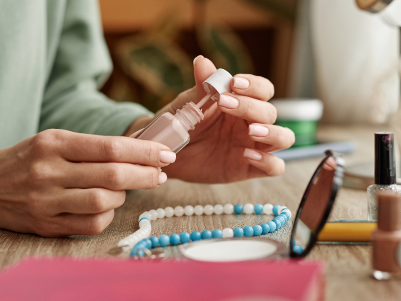
<path id="1" fill-rule="evenodd" d="M 39 130 L 121 135 L 134 119 L 151 114 L 139 104 L 118 103 L 98 91 L 112 66 L 95 0 L 67 1 L 64 24 L 53 43 L 57 43 L 55 58 L 44 91 Z"/>

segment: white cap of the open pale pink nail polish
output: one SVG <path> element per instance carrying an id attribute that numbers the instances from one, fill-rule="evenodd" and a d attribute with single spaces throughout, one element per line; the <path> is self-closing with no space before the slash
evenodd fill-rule
<path id="1" fill-rule="evenodd" d="M 214 101 L 219 99 L 219 95 L 226 92 L 233 92 L 231 90 L 231 80 L 233 76 L 224 69 L 217 69 L 215 73 L 208 77 L 203 82 L 202 86 L 206 93 L 211 93 Z M 216 95 L 217 94 L 217 95 Z"/>

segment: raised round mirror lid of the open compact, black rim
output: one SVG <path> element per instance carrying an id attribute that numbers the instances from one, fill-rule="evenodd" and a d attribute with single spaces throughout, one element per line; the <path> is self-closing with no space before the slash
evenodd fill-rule
<path id="1" fill-rule="evenodd" d="M 342 179 L 343 160 L 327 150 L 299 205 L 290 240 L 291 257 L 305 256 L 315 244 L 333 207 Z"/>

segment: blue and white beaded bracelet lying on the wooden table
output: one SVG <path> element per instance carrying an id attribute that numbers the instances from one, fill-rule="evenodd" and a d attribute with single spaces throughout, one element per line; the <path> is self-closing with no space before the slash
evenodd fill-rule
<path id="1" fill-rule="evenodd" d="M 222 213 L 225 214 L 274 214 L 276 217 L 267 223 L 263 223 L 261 225 L 245 226 L 244 228 L 237 227 L 234 230 L 231 228 L 225 228 L 223 231 L 220 229 L 215 229 L 212 231 L 204 230 L 202 233 L 198 231 L 193 231 L 191 234 L 187 232 L 182 232 L 180 235 L 173 233 L 170 236 L 161 235 L 160 237 L 152 236 L 150 239 L 147 239 L 152 230 L 150 221 L 161 219 L 164 217 L 172 217 L 177 216 L 181 217 L 184 214 L 186 216 L 195 215 L 212 215 L 213 213 L 220 215 Z M 259 236 L 261 234 L 271 233 L 277 229 L 280 229 L 290 218 L 292 214 L 291 211 L 285 207 L 280 205 L 273 206 L 272 204 L 256 204 L 255 206 L 248 203 L 244 206 L 241 204 L 232 205 L 206 205 L 205 207 L 201 205 L 196 205 L 192 207 L 190 205 L 185 206 L 177 206 L 175 208 L 166 207 L 165 209 L 159 208 L 157 210 L 150 210 L 142 213 L 139 216 L 139 230 L 135 231 L 133 234 L 123 238 L 118 242 L 118 246 L 122 247 L 123 250 L 131 249 L 131 255 L 136 255 L 139 249 L 150 249 L 151 247 L 155 248 L 157 246 L 167 246 L 177 245 L 178 243 L 186 243 L 189 240 L 195 241 L 199 239 L 210 239 L 210 238 L 226 238 L 226 237 L 242 237 L 242 236 Z M 143 251 L 143 250 L 142 250 Z"/>

